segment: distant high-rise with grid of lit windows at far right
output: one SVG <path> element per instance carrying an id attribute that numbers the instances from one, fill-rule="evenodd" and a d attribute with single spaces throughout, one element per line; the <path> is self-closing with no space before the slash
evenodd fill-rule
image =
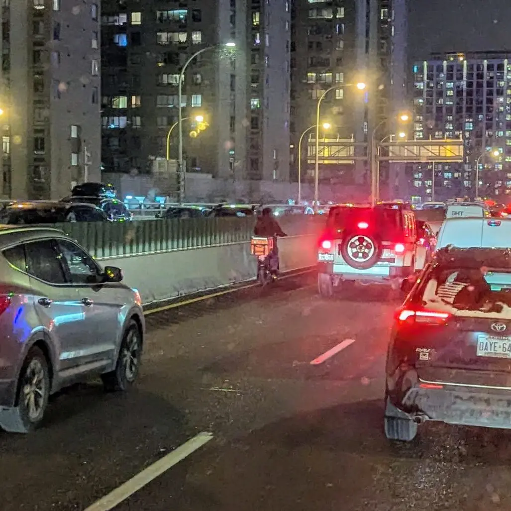
<path id="1" fill-rule="evenodd" d="M 414 137 L 463 138 L 463 164 L 436 164 L 435 199 L 511 193 L 511 54 L 432 55 L 413 64 Z M 495 156 L 494 153 L 499 155 Z M 415 165 L 412 195 L 431 197 L 433 166 Z"/>

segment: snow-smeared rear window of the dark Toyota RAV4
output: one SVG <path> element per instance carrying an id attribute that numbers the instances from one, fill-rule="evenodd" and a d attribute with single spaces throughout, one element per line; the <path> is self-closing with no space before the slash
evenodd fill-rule
<path id="1" fill-rule="evenodd" d="M 511 319 L 511 266 L 437 267 L 423 283 L 421 300 L 428 310 Z"/>

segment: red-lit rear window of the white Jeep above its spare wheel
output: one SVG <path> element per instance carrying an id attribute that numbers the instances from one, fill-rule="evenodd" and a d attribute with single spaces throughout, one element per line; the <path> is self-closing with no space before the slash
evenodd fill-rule
<path id="1" fill-rule="evenodd" d="M 331 231 L 355 229 L 359 222 L 367 222 L 371 230 L 378 231 L 387 240 L 402 234 L 403 230 L 403 214 L 399 209 L 349 206 L 331 208 L 327 229 Z"/>

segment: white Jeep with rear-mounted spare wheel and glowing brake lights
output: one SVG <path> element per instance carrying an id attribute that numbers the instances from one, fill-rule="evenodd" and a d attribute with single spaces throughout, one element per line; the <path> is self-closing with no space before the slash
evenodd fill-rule
<path id="1" fill-rule="evenodd" d="M 404 278 L 422 269 L 416 250 L 415 215 L 403 204 L 334 206 L 319 240 L 319 293 L 329 297 L 334 287 L 355 281 L 397 290 Z"/>

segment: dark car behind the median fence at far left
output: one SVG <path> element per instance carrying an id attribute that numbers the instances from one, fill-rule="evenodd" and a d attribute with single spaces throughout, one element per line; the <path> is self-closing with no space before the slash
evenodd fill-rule
<path id="1" fill-rule="evenodd" d="M 104 222 L 107 215 L 94 204 L 60 201 L 13 201 L 0 210 L 0 224 Z"/>

